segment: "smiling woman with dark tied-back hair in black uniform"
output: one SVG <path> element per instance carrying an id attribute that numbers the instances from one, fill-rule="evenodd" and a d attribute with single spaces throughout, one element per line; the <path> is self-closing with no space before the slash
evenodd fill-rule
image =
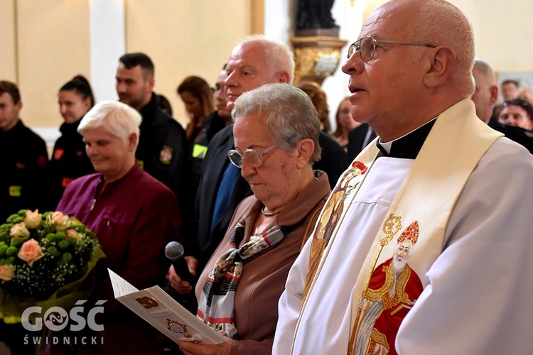
<path id="1" fill-rule="evenodd" d="M 53 203 L 61 199 L 65 187 L 82 175 L 95 173 L 85 153 L 85 143 L 77 133 L 83 116 L 95 105 L 95 97 L 85 77 L 77 75 L 61 87 L 58 94 L 59 111 L 65 122 L 59 130 L 61 136 L 55 141 L 50 171 L 53 179 Z"/>

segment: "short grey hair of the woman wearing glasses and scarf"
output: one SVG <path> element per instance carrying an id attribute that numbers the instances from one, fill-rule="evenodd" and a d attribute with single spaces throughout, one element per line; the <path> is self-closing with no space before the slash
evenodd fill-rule
<path id="1" fill-rule="evenodd" d="M 318 135 L 321 122 L 313 102 L 301 89 L 290 84 L 265 84 L 244 92 L 235 101 L 232 111 L 234 121 L 249 114 L 266 116 L 266 133 L 285 151 L 294 151 L 296 144 L 311 138 L 315 150 L 309 159 L 313 164 L 321 158 Z"/>

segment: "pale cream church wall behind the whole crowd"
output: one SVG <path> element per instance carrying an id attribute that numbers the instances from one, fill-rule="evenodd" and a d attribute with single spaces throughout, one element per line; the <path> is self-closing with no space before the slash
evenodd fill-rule
<path id="1" fill-rule="evenodd" d="M 19 85 L 24 104 L 21 118 L 38 131 L 57 130 L 61 124 L 57 93 L 65 82 L 82 74 L 95 87 L 91 67 L 108 66 L 110 72 L 117 67 L 117 55 L 91 63 L 92 1 L 110 0 L 0 0 L 0 77 Z M 188 117 L 176 94 L 181 80 L 199 75 L 214 84 L 230 50 L 244 35 L 264 32 L 289 40 L 296 0 L 114 1 L 124 11 L 123 48 L 151 56 L 156 65 L 155 90 L 170 99 L 175 118 L 185 125 Z M 533 72 L 533 46 L 529 45 L 533 28 L 524 11 L 527 0 L 451 2 L 473 24 L 479 58 L 496 72 Z M 357 39 L 365 16 L 383 3 L 336 0 L 332 14 L 340 37 L 348 44 Z M 343 60 L 344 53 L 340 65 Z M 117 99 L 109 94 L 114 92 L 114 78 L 107 80 L 106 94 L 95 91 L 97 101 Z M 339 67 L 323 83 L 332 118 L 338 102 L 348 94 L 347 82 Z"/>

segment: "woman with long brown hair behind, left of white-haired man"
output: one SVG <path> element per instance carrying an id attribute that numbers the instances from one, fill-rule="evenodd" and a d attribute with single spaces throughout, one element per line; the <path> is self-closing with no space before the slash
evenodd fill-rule
<path id="1" fill-rule="evenodd" d="M 190 116 L 190 123 L 185 128 L 185 133 L 191 148 L 203 133 L 203 121 L 215 111 L 215 99 L 208 82 L 201 77 L 185 77 L 177 91 Z"/>

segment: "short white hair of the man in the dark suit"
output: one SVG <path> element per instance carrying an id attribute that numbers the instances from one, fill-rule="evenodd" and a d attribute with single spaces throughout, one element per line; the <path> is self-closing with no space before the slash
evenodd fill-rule
<path id="1" fill-rule="evenodd" d="M 289 84 L 294 80 L 294 53 L 289 45 L 279 40 L 266 38 L 264 35 L 248 35 L 240 40 L 238 45 L 257 44 L 264 48 L 266 62 L 269 63 L 271 74 L 284 70 L 289 73 Z"/>

